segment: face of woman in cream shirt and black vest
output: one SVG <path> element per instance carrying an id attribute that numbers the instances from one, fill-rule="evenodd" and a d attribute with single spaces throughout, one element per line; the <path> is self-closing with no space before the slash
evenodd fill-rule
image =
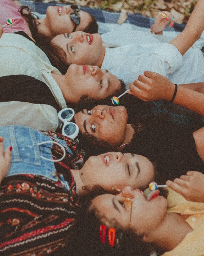
<path id="1" fill-rule="evenodd" d="M 121 89 L 120 80 L 107 70 L 101 70 L 98 66 L 72 64 L 67 70 L 66 77 L 69 88 L 67 93 L 72 94 L 73 103 L 77 103 L 82 95 L 102 100 L 113 96 L 115 91 Z"/>

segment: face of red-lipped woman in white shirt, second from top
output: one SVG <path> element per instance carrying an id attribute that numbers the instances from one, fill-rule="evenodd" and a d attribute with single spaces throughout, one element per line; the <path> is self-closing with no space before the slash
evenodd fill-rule
<path id="1" fill-rule="evenodd" d="M 52 39 L 66 53 L 66 63 L 78 65 L 98 65 L 103 60 L 105 48 L 100 34 L 87 34 L 82 31 L 64 33 Z"/>

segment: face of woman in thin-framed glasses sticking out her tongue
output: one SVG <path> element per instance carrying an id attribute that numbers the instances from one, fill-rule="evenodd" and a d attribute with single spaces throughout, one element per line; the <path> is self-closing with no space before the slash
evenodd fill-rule
<path id="1" fill-rule="evenodd" d="M 149 230 L 158 228 L 167 211 L 166 198 L 157 196 L 147 201 L 139 189 L 132 190 L 130 187 L 125 187 L 123 191 L 133 196 L 132 212 L 131 203 L 122 192 L 118 195 L 103 194 L 92 200 L 92 206 L 99 211 L 99 217 L 105 216 L 109 224 L 114 219 L 121 228 L 130 225 L 137 234 L 148 233 Z"/>

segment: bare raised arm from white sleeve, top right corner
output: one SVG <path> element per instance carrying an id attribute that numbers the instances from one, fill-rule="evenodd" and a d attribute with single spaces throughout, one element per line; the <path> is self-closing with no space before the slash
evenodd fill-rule
<path id="1" fill-rule="evenodd" d="M 173 44 L 183 55 L 200 38 L 203 30 L 204 1 L 198 0 L 184 30 L 169 43 Z"/>

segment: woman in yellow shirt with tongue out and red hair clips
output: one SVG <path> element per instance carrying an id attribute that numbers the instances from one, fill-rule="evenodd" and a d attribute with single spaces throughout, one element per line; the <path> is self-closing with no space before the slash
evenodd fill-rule
<path id="1" fill-rule="evenodd" d="M 169 192 L 166 199 L 152 191 L 148 200 L 131 187 L 98 195 L 81 208 L 67 248 L 79 256 L 149 256 L 154 249 L 163 256 L 204 255 L 204 203 Z"/>

